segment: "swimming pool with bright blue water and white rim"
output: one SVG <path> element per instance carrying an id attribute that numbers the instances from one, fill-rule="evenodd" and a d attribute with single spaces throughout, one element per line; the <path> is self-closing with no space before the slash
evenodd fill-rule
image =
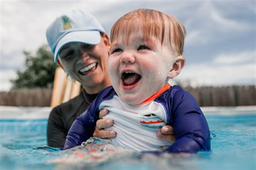
<path id="1" fill-rule="evenodd" d="M 2 109 L 0 117 L 0 167 L 3 169 L 256 169 L 256 111 L 207 108 L 203 111 L 211 130 L 212 152 L 189 158 L 175 155 L 123 155 L 100 164 L 58 164 L 49 160 L 61 152 L 46 146 L 50 108 Z M 37 148 L 41 147 L 41 148 Z M 59 154 L 60 153 L 60 154 Z"/>

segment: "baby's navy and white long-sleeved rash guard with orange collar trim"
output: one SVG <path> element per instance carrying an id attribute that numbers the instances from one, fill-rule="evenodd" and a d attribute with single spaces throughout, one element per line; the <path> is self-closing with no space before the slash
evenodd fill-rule
<path id="1" fill-rule="evenodd" d="M 211 150 L 208 124 L 194 97 L 179 86 L 166 84 L 155 95 L 138 105 L 129 105 L 120 100 L 113 87 L 102 90 L 89 108 L 72 124 L 65 148 L 80 145 L 92 137 L 99 110 L 106 108 L 117 136 L 115 146 L 136 151 L 188 152 Z M 166 124 L 173 126 L 174 143 L 157 138 L 157 132 Z"/>

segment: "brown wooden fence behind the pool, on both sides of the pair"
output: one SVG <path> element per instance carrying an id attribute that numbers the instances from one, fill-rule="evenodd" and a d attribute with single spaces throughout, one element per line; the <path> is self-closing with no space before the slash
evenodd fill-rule
<path id="1" fill-rule="evenodd" d="M 255 86 L 185 88 L 201 107 L 256 105 Z M 24 89 L 0 92 L 0 105 L 49 107 L 51 89 Z"/>

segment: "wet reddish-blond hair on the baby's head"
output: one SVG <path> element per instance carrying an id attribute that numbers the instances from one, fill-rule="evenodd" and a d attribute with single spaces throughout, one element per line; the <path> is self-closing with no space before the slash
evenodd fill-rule
<path id="1" fill-rule="evenodd" d="M 138 31 L 142 31 L 145 38 L 160 40 L 161 46 L 168 45 L 179 55 L 183 53 L 185 27 L 175 17 L 156 10 L 134 10 L 119 18 L 111 29 L 111 42 L 128 41 L 131 34 Z"/>

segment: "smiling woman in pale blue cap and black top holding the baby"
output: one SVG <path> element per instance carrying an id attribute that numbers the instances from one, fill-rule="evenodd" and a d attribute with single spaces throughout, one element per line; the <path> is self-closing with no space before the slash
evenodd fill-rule
<path id="1" fill-rule="evenodd" d="M 72 10 L 56 20 L 46 31 L 48 44 L 52 49 L 55 62 L 72 79 L 83 86 L 80 94 L 70 101 L 53 108 L 47 129 L 48 145 L 64 147 L 66 135 L 75 121 L 98 95 L 99 91 L 111 86 L 107 62 L 109 59 L 110 40 L 102 25 L 90 13 Z M 100 111 L 100 118 L 107 114 Z M 116 136 L 112 130 L 111 119 L 97 121 L 94 137 L 111 138 Z M 174 141 L 171 126 L 164 126 L 157 136 L 166 141 Z"/>

